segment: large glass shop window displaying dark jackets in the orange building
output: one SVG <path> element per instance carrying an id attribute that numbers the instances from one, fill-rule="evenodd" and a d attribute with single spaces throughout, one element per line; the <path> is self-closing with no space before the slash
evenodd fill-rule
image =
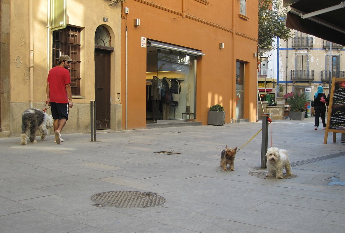
<path id="1" fill-rule="evenodd" d="M 147 121 L 194 119 L 196 56 L 147 47 Z"/>

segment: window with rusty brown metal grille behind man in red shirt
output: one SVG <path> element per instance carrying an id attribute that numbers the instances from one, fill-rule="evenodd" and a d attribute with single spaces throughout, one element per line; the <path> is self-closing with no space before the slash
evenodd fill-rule
<path id="1" fill-rule="evenodd" d="M 70 63 L 72 95 L 80 95 L 80 28 L 67 26 L 53 31 L 53 67 L 59 62 L 61 55 L 68 55 Z"/>

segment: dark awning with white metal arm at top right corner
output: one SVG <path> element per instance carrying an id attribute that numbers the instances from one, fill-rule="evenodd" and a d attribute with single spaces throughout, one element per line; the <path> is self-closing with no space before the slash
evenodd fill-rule
<path id="1" fill-rule="evenodd" d="M 345 2 L 299 0 L 289 7 L 286 26 L 345 46 Z"/>

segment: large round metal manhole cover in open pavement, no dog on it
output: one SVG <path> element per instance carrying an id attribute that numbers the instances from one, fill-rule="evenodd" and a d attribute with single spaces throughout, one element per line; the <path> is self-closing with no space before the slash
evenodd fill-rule
<path id="1" fill-rule="evenodd" d="M 118 208 L 144 208 L 161 205 L 165 199 L 156 193 L 137 191 L 109 191 L 95 194 L 91 200 L 97 204 Z"/>

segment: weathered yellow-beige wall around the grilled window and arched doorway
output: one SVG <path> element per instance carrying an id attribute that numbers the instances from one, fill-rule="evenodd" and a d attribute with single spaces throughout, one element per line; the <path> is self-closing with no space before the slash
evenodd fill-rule
<path id="1" fill-rule="evenodd" d="M 7 2 L 7 3 L 4 3 Z M 30 96 L 30 38 L 29 1 L 1 0 L 1 126 L 0 137 L 18 137 L 21 133 L 21 114 L 33 106 L 43 110 L 46 101 L 47 72 L 51 68 L 51 32 L 47 38 L 47 0 L 33 4 L 33 96 Z M 67 24 L 81 28 L 81 95 L 72 96 L 73 108 L 64 133 L 90 132 L 90 100 L 95 99 L 95 31 L 105 26 L 111 36 L 111 128 L 121 130 L 121 4 L 108 6 L 108 1 L 67 1 Z M 108 22 L 103 22 L 103 17 Z M 7 19 L 8 18 L 8 19 Z M 7 19 L 7 21 L 6 21 Z M 10 22 L 10 23 L 9 23 Z M 11 32 L 11 34 L 9 34 Z M 9 45 L 9 41 L 11 44 Z M 49 44 L 49 45 L 48 45 Z M 47 59 L 50 59 L 49 65 Z M 2 59 L 4 58 L 4 59 Z M 7 67 L 6 70 L 3 67 Z M 5 73 L 3 75 L 3 73 Z M 5 133 L 5 131 L 7 133 Z M 52 133 L 52 130 L 50 130 Z"/>

